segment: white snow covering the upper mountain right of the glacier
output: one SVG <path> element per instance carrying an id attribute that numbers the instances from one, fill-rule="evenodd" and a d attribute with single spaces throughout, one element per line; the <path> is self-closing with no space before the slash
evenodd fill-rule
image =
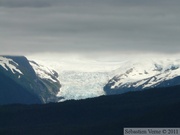
<path id="1" fill-rule="evenodd" d="M 136 83 L 133 87 L 143 85 L 149 78 L 152 78 L 143 88 L 156 86 L 164 80 L 170 80 L 180 75 L 180 60 L 174 58 L 141 59 L 125 61 L 121 67 L 113 71 L 118 81 L 111 88 L 118 88 L 122 85 Z"/>

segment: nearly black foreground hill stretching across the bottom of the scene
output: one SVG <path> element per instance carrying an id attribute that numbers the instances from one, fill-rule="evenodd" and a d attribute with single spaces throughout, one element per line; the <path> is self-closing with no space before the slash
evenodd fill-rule
<path id="1" fill-rule="evenodd" d="M 121 135 L 179 127 L 180 86 L 44 105 L 0 106 L 2 135 Z"/>

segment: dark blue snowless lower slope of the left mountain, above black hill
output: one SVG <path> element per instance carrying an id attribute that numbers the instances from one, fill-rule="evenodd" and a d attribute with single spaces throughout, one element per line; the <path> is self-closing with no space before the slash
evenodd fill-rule
<path id="1" fill-rule="evenodd" d="M 37 95 L 30 93 L 4 74 L 0 75 L 0 104 L 41 103 Z"/>

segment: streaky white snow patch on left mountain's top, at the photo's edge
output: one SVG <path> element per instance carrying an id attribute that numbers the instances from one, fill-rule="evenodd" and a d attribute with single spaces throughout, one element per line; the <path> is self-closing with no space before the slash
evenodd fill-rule
<path id="1" fill-rule="evenodd" d="M 12 59 L 0 56 L 0 65 L 7 71 L 10 69 L 13 74 L 18 72 L 19 74 L 23 75 L 23 73 L 19 69 L 17 69 L 19 65 L 16 62 L 14 62 Z"/>

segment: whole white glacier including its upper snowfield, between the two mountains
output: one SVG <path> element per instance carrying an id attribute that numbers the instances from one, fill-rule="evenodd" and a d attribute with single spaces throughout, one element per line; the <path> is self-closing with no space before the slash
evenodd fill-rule
<path id="1" fill-rule="evenodd" d="M 105 95 L 103 87 L 112 77 L 110 71 L 119 66 L 119 62 L 109 63 L 78 58 L 59 60 L 30 58 L 29 60 L 38 63 L 38 66 L 33 63 L 31 65 L 40 77 L 49 77 L 46 74 L 52 74 L 53 70 L 58 73 L 61 84 L 60 92 L 57 94 L 59 102 Z"/>

